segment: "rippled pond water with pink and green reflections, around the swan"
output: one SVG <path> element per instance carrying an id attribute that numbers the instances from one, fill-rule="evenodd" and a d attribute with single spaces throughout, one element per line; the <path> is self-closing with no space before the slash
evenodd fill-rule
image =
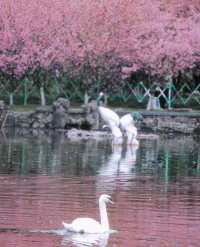
<path id="1" fill-rule="evenodd" d="M 70 140 L 1 136 L 0 246 L 200 246 L 200 146 L 192 137 Z M 110 235 L 67 235 L 62 221 L 99 219 L 112 196 Z"/>

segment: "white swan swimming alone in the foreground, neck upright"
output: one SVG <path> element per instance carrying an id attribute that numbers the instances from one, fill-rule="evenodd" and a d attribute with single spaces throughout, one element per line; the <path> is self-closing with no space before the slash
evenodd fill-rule
<path id="1" fill-rule="evenodd" d="M 101 223 L 92 218 L 77 218 L 71 224 L 63 222 L 64 228 L 69 232 L 75 233 L 105 233 L 109 232 L 106 203 L 113 203 L 109 195 L 103 194 L 99 197 L 99 210 Z"/>

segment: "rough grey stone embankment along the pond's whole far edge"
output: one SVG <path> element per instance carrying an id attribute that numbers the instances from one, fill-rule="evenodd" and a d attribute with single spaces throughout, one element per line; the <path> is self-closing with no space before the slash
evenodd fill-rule
<path id="1" fill-rule="evenodd" d="M 115 108 L 120 115 L 128 113 L 126 109 Z M 136 123 L 140 130 L 156 133 L 200 134 L 200 111 L 140 111 L 143 121 Z M 33 112 L 8 113 L 5 127 L 31 129 L 84 129 L 101 128 L 96 102 L 80 108 L 70 107 L 67 99 L 59 98 L 52 106 L 39 107 Z"/>

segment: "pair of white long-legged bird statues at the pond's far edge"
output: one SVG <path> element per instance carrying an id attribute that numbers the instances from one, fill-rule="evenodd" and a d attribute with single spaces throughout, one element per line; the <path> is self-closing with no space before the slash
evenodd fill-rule
<path id="1" fill-rule="evenodd" d="M 136 139 L 137 128 L 135 127 L 134 119 L 142 119 L 142 115 L 139 112 L 133 112 L 125 114 L 120 118 L 113 110 L 100 106 L 102 97 L 104 97 L 104 94 L 101 92 L 97 98 L 98 112 L 106 123 L 106 126 L 108 126 L 112 132 L 113 144 L 122 144 L 122 133 L 125 133 L 127 136 L 127 144 L 138 145 L 138 140 Z"/>

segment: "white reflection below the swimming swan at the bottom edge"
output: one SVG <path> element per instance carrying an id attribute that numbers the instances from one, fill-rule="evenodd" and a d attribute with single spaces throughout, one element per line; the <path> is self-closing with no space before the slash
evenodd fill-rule
<path id="1" fill-rule="evenodd" d="M 94 246 L 94 245 L 98 247 L 106 247 L 108 245 L 109 235 L 110 233 L 101 233 L 101 234 L 68 233 L 63 238 L 62 245 L 68 245 L 69 243 L 72 243 L 77 247 Z"/>

